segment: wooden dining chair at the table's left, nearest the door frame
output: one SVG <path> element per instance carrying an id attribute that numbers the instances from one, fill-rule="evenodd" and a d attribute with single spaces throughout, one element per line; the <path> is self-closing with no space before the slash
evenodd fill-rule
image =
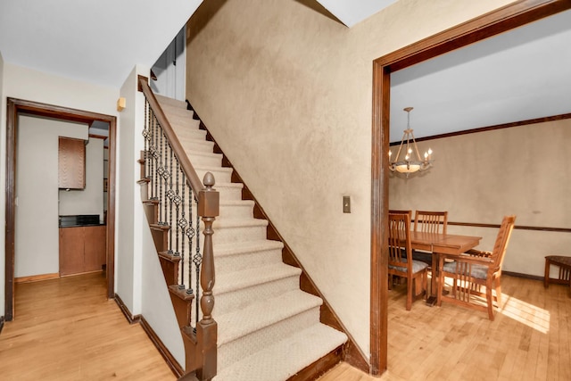
<path id="1" fill-rule="evenodd" d="M 392 277 L 398 276 L 407 280 L 407 311 L 410 311 L 413 300 L 426 295 L 426 268 L 421 261 L 411 260 L 410 215 L 407 213 L 389 213 L 389 287 Z"/>

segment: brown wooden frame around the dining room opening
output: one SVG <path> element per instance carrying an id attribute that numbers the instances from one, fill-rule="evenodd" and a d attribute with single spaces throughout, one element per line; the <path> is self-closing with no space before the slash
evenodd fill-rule
<path id="1" fill-rule="evenodd" d="M 371 152 L 370 373 L 387 369 L 388 155 L 391 73 L 571 9 L 571 0 L 520 0 L 446 29 L 373 62 Z"/>

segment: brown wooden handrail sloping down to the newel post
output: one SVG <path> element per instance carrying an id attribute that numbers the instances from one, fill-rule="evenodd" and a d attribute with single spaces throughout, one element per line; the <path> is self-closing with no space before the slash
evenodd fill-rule
<path id="1" fill-rule="evenodd" d="M 147 79 L 143 76 L 139 76 L 138 81 L 139 89 L 143 92 L 143 94 L 145 94 L 147 102 L 153 109 L 154 116 L 161 125 L 161 128 L 164 131 L 164 135 L 169 140 L 172 151 L 177 157 L 177 160 L 180 163 L 180 167 L 188 179 L 190 187 L 194 190 L 194 193 L 198 195 L 201 190 L 205 189 L 203 182 L 196 174 L 196 170 L 194 170 L 190 160 L 188 160 L 185 149 L 182 147 L 182 145 L 180 145 L 177 134 L 175 134 L 175 131 L 170 126 L 169 120 L 167 120 L 164 112 L 162 112 L 162 108 L 159 105 L 157 98 L 154 96 L 153 90 L 151 90 L 151 87 L 149 87 L 149 84 L 147 83 Z"/>

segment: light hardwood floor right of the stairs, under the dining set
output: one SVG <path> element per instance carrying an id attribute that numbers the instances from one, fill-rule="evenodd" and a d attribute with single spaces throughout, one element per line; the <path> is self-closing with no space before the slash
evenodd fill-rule
<path id="1" fill-rule="evenodd" d="M 389 292 L 388 371 L 381 380 L 571 380 L 568 286 L 502 277 L 504 307 L 484 312 L 414 302 L 406 287 Z M 345 363 L 319 381 L 372 381 Z"/>

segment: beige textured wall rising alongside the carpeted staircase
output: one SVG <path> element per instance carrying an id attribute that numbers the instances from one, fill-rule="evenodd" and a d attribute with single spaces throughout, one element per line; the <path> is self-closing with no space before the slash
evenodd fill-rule
<path id="1" fill-rule="evenodd" d="M 211 2 L 187 44 L 187 98 L 365 353 L 372 62 L 509 3 L 401 0 L 347 29 L 296 1 Z"/>

